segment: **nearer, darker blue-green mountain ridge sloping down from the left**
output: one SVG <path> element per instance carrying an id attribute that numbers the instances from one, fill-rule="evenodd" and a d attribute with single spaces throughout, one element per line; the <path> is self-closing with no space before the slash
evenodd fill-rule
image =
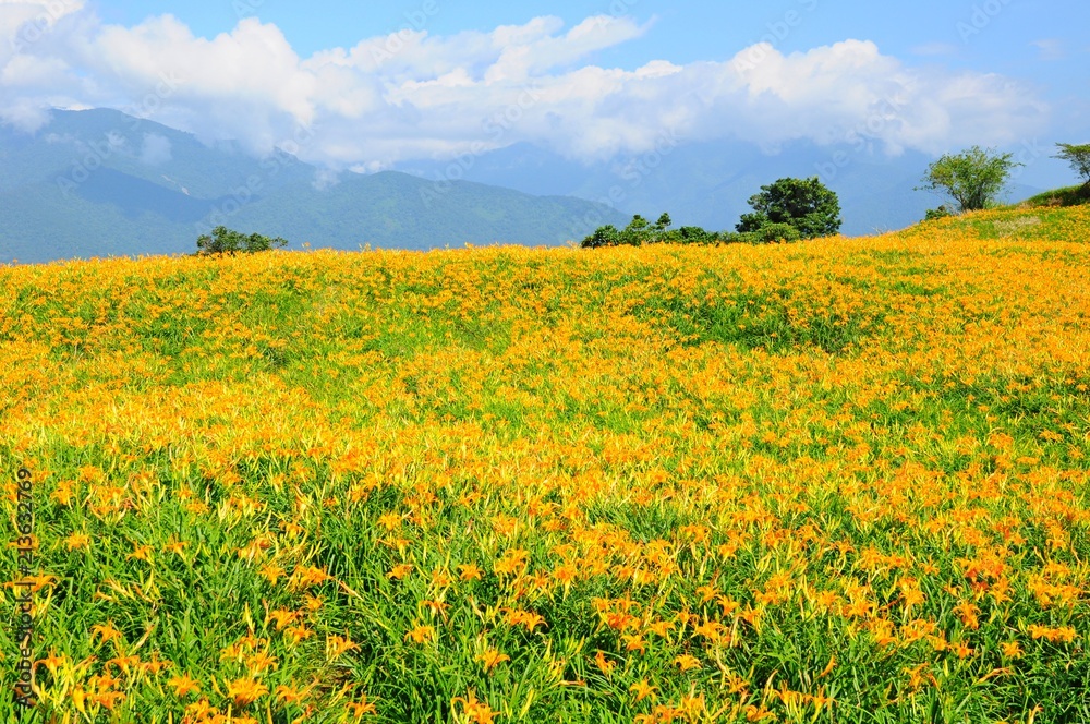
<path id="1" fill-rule="evenodd" d="M 119 111 L 53 111 L 33 136 L 0 125 L 0 262 L 190 253 L 214 226 L 292 248 L 435 249 L 560 244 L 627 216 L 562 195 L 407 173 L 331 174 L 283 152 L 235 144 Z"/>

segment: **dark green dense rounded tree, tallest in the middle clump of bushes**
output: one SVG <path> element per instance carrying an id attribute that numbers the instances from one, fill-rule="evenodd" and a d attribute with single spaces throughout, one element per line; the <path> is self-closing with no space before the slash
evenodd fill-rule
<path id="1" fill-rule="evenodd" d="M 770 224 L 787 224 L 802 239 L 831 237 L 840 230 L 840 202 L 836 193 L 812 179 L 779 179 L 761 186 L 749 200 L 753 207 L 737 225 L 742 233 L 760 231 Z"/>

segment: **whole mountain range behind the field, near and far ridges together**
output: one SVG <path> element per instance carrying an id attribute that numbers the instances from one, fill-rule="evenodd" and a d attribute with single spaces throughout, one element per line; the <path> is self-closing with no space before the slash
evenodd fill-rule
<path id="1" fill-rule="evenodd" d="M 0 263 L 189 253 L 220 224 L 283 237 L 290 248 L 344 250 L 560 244 L 662 212 L 677 226 L 732 230 L 762 185 L 812 176 L 837 192 L 841 231 L 861 236 L 915 224 L 941 203 L 916 190 L 931 160 L 887 157 L 865 143 L 799 141 L 768 154 L 670 137 L 608 162 L 514 144 L 364 176 L 282 150 L 254 158 L 238 144 L 206 145 L 116 110 L 56 110 L 34 135 L 0 125 Z M 1039 191 L 1015 184 L 1008 198 Z"/>

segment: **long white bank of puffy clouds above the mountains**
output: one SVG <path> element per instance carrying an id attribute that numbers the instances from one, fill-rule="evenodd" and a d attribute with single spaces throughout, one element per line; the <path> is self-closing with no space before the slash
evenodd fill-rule
<path id="1" fill-rule="evenodd" d="M 664 137 L 938 153 L 1015 144 L 1050 122 L 1032 87 L 909 64 L 867 40 L 785 55 L 768 38 L 726 59 L 628 70 L 594 56 L 654 22 L 535 17 L 436 36 L 421 15 L 419 27 L 301 58 L 254 17 L 209 39 L 171 15 L 125 27 L 83 0 L 0 0 L 0 120 L 35 130 L 51 107 L 112 107 L 208 143 L 358 170 L 519 142 L 605 160 Z M 153 156 L 169 154 L 152 143 Z"/>

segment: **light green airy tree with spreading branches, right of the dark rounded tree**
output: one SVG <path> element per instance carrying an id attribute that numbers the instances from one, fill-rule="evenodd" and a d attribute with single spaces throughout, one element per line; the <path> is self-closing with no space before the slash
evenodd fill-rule
<path id="1" fill-rule="evenodd" d="M 920 189 L 949 196 L 962 214 L 986 208 L 1006 186 L 1010 171 L 1022 166 L 1010 160 L 1013 157 L 980 146 L 946 154 L 928 167 Z"/>

